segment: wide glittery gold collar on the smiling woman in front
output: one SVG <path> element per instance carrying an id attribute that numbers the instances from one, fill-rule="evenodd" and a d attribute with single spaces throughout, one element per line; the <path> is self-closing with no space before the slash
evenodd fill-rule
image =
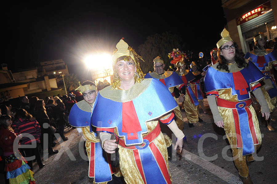
<path id="1" fill-rule="evenodd" d="M 108 86 L 101 91 L 100 95 L 104 98 L 116 101 L 116 102 L 129 102 L 141 95 L 150 85 L 152 79 L 144 79 L 140 83 L 136 82 L 130 89 L 113 89 L 112 86 Z"/>

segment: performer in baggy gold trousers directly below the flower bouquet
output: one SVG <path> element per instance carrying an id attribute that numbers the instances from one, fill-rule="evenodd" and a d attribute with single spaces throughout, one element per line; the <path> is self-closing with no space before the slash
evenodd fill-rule
<path id="1" fill-rule="evenodd" d="M 195 79 L 195 76 L 192 74 L 192 72 L 186 69 L 186 64 L 184 63 L 183 59 L 172 61 L 171 64 L 175 64 L 175 68 L 177 68 L 176 72 L 184 83 L 179 86 L 179 90 L 181 90 L 182 95 L 184 96 L 183 106 L 187 115 L 187 120 L 189 123 L 188 125 L 189 127 L 194 127 L 193 124 L 197 123 L 200 117 L 199 102 L 192 90 L 192 88 L 195 87 L 195 84 L 190 83 Z"/>

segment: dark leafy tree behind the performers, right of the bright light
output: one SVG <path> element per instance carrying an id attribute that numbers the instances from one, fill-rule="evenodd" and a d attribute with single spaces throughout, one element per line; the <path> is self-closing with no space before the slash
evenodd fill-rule
<path id="1" fill-rule="evenodd" d="M 170 61 L 167 56 L 172 49 L 181 49 L 182 37 L 177 34 L 170 32 L 165 32 L 161 34 L 155 34 L 146 38 L 146 41 L 139 45 L 139 54 L 143 57 L 145 62 L 140 62 L 141 69 L 143 73 L 148 73 L 149 71 L 154 71 L 153 60 L 155 57 L 160 56 L 165 64 L 165 69 L 169 68 Z"/>

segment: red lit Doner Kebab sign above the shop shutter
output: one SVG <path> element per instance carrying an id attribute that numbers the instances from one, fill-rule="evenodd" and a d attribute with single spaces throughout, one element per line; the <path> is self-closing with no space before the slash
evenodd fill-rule
<path id="1" fill-rule="evenodd" d="M 238 18 L 236 18 L 236 22 L 237 25 L 241 25 L 247 21 L 252 20 L 253 18 L 257 18 L 260 15 L 263 15 L 269 11 L 271 11 L 271 5 L 270 5 L 270 1 L 264 3 L 263 5 L 255 8 L 254 10 L 251 10 L 249 12 L 247 12 L 246 14 L 243 14 L 241 16 L 239 16 Z"/>

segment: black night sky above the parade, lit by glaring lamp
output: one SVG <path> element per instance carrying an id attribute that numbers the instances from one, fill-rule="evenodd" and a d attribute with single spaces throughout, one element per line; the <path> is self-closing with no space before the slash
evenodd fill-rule
<path id="1" fill-rule="evenodd" d="M 63 59 L 69 72 L 84 67 L 89 53 L 112 53 L 122 38 L 137 50 L 147 36 L 171 31 L 197 53 L 212 49 L 226 25 L 217 1 L 21 2 L 4 9 L 4 60 L 15 71 Z M 182 49 L 182 48 L 180 48 Z M 170 51 L 169 51 L 170 52 Z M 78 67 L 76 67 L 78 66 Z"/>

